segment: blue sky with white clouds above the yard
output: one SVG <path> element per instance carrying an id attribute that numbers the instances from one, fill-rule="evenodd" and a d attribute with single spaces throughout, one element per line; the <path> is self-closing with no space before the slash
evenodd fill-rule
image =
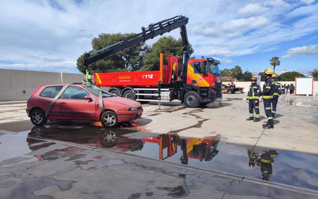
<path id="1" fill-rule="evenodd" d="M 100 33 L 139 33 L 177 15 L 189 18 L 192 55 L 217 58 L 221 69 L 257 73 L 273 56 L 278 75 L 318 68 L 317 0 L 3 1 L 0 68 L 79 73 L 77 58 Z"/>

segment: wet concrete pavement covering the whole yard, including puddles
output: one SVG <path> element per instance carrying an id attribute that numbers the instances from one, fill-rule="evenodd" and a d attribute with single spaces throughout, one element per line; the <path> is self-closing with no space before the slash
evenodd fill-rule
<path id="1" fill-rule="evenodd" d="M 0 105 L 0 197 L 316 198 L 317 98 L 280 97 L 275 128 L 264 130 L 264 110 L 245 121 L 245 99 L 227 96 L 197 109 L 147 104 L 115 129 L 33 126 L 22 104 Z"/>

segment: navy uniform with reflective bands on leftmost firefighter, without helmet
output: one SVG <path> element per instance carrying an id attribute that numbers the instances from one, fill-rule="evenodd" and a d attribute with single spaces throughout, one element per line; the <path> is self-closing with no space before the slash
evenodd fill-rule
<path id="1" fill-rule="evenodd" d="M 255 103 L 255 101 L 259 101 L 260 94 L 257 91 L 260 90 L 260 86 L 255 83 L 251 84 L 248 89 L 246 100 L 248 100 L 248 110 L 250 112 L 250 118 L 254 117 L 253 109 L 255 110 L 255 118 L 259 118 L 259 102 Z"/>

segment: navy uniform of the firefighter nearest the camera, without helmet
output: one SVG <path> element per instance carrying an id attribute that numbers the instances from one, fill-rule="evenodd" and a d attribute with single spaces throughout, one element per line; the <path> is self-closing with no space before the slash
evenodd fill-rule
<path id="1" fill-rule="evenodd" d="M 265 80 L 265 84 L 263 86 L 263 89 L 260 90 L 261 93 L 263 93 L 262 98 L 264 101 L 264 110 L 265 114 L 267 116 L 267 124 L 274 125 L 273 123 L 273 116 L 272 116 L 272 110 L 271 110 L 271 103 L 273 100 L 274 95 L 274 85 L 272 84 L 272 78 L 267 78 Z"/>

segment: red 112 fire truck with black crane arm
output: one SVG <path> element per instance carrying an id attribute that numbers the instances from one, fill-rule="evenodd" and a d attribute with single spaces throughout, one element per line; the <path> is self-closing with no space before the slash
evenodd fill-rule
<path id="1" fill-rule="evenodd" d="M 188 19 L 185 16 L 176 16 L 148 28 L 142 27 L 142 33 L 103 48 L 94 53 L 84 55 L 84 66 L 89 65 L 118 53 L 136 44 L 153 39 L 158 35 L 180 28 L 183 40 L 183 63 L 178 78 L 178 58 L 160 54 L 159 71 L 95 73 L 96 85 L 109 87 L 109 92 L 117 96 L 137 100 L 141 103 L 151 101 L 169 102 L 175 99 L 189 108 L 196 108 L 222 99 L 222 80 L 218 64 L 213 58 L 189 59 L 189 42 L 186 32 Z M 115 47 L 113 47 L 115 46 Z M 107 48 L 107 51 L 99 53 Z M 95 56 L 91 55 L 99 53 Z"/>

